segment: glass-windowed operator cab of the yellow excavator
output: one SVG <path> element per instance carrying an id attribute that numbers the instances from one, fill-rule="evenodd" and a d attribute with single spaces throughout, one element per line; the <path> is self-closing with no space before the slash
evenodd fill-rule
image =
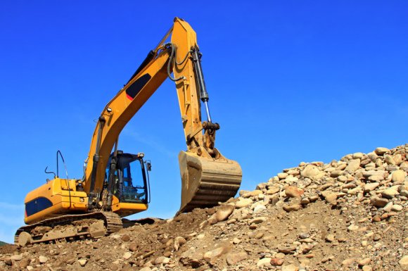
<path id="1" fill-rule="evenodd" d="M 116 169 L 113 172 L 112 194 L 124 203 L 148 203 L 148 171 L 151 169 L 149 162 L 143 160 L 144 154 L 131 154 L 117 151 Z M 113 153 L 110 155 L 106 168 L 106 187 L 109 187 L 110 164 Z"/>

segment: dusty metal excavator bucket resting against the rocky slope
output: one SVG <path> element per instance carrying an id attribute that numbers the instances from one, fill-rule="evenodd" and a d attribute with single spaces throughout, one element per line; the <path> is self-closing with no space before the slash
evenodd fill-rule
<path id="1" fill-rule="evenodd" d="M 221 156 L 221 155 L 220 155 Z M 179 213 L 194 208 L 216 206 L 235 196 L 241 185 L 242 170 L 236 161 L 214 159 L 196 153 L 179 153 L 181 207 Z"/>

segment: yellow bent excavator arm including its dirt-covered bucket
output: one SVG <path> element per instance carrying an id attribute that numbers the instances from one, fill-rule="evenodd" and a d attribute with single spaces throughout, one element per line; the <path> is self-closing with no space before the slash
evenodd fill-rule
<path id="1" fill-rule="evenodd" d="M 165 43 L 170 35 L 171 42 Z M 215 148 L 215 131 L 219 125 L 212 122 L 208 108 L 196 32 L 184 20 L 175 18 L 172 29 L 98 118 L 83 183 L 90 210 L 96 207 L 103 189 L 110 152 L 120 132 L 167 78 L 176 84 L 187 146 L 187 151 L 179 153 L 182 182 L 179 211 L 214 206 L 238 191 L 242 178 L 240 166 Z M 204 122 L 200 100 L 207 116 Z"/>

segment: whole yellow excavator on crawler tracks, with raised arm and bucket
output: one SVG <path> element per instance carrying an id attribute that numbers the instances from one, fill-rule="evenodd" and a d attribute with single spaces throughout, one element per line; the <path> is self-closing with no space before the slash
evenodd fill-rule
<path id="1" fill-rule="evenodd" d="M 117 144 L 127 122 L 167 78 L 176 84 L 187 145 L 179 153 L 179 213 L 215 206 L 235 196 L 241 167 L 215 148 L 219 125 L 210 116 L 200 58 L 196 32 L 184 20 L 174 18 L 158 46 L 103 109 L 85 160 L 84 177 L 60 178 L 58 151 L 57 174 L 27 194 L 27 225 L 15 233 L 15 244 L 103 237 L 122 228 L 121 218 L 147 210 L 151 164 L 144 160 L 144 153 L 123 153 Z M 206 121 L 201 120 L 201 102 Z"/>

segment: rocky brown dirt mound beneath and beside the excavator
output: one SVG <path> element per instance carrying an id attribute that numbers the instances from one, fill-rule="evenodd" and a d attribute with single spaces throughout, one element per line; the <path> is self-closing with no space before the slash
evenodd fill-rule
<path id="1" fill-rule="evenodd" d="M 109 237 L 0 248 L 5 270 L 408 270 L 408 144 L 300 163 L 238 198 Z"/>

